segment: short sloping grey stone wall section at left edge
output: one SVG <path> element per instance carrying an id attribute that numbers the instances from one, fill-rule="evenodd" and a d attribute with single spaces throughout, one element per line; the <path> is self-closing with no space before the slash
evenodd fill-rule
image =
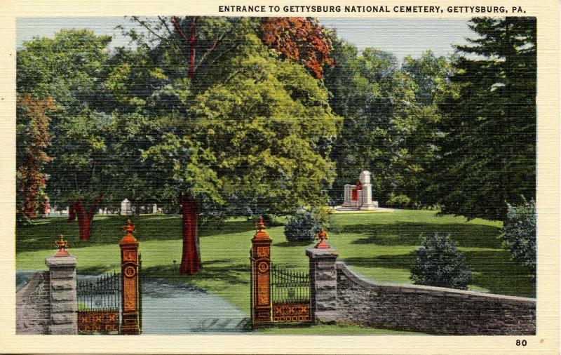
<path id="1" fill-rule="evenodd" d="M 36 272 L 15 294 L 15 333 L 48 334 L 50 326 L 49 272 Z"/>

